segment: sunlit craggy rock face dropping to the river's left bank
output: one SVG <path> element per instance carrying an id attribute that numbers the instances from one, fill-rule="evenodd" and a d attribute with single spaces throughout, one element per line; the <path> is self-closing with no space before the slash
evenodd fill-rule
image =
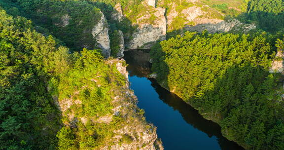
<path id="1" fill-rule="evenodd" d="M 123 60 L 122 60 L 123 61 Z M 114 114 L 124 116 L 128 123 L 119 130 L 115 130 L 115 136 L 112 139 L 114 145 L 104 147 L 102 150 L 163 150 L 161 142 L 157 139 L 156 127 L 144 121 L 137 112 L 137 97 L 129 88 L 128 72 L 126 66 L 121 60 L 111 60 L 109 64 L 116 64 L 117 70 L 126 77 L 126 85 L 116 89 L 117 95 L 113 98 L 115 108 Z M 128 137 L 131 143 L 121 143 L 121 139 Z"/>

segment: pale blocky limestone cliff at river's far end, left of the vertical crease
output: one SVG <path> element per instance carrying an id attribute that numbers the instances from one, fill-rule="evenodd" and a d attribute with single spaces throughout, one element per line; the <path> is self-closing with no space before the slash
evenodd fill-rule
<path id="1" fill-rule="evenodd" d="M 165 8 L 155 8 L 154 24 L 141 23 L 133 33 L 132 38 L 126 43 L 126 49 L 149 49 L 158 40 L 165 40 L 167 33 L 167 23 Z M 149 19 L 151 14 L 145 14 L 140 20 Z"/>

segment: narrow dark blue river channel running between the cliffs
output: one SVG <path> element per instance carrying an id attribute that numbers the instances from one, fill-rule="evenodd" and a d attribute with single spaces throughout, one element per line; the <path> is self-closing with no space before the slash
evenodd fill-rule
<path id="1" fill-rule="evenodd" d="M 146 78 L 150 72 L 147 51 L 125 52 L 131 88 L 138 97 L 138 106 L 157 127 L 165 150 L 243 150 L 221 135 L 220 127 L 204 119 L 177 95 Z"/>

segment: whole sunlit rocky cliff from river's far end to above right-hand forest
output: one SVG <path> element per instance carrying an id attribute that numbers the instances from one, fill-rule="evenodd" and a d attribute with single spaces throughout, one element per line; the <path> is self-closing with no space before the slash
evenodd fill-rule
<path id="1" fill-rule="evenodd" d="M 149 49 L 155 42 L 165 40 L 167 32 L 178 31 L 182 34 L 185 31 L 207 30 L 209 33 L 246 33 L 256 28 L 255 25 L 244 24 L 236 19 L 225 21 L 226 14 L 202 0 L 144 0 L 137 10 L 123 8 L 124 15 L 120 4 L 114 8 L 112 16 L 116 16 L 117 21 L 121 21 L 121 16 L 124 16 L 132 22 L 133 27 L 137 27 L 131 35 L 125 34 L 126 50 Z M 238 7 L 230 9 L 241 11 Z"/>

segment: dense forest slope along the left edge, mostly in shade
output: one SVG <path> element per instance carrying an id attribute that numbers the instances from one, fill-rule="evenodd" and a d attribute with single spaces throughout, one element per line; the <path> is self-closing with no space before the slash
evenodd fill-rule
<path id="1" fill-rule="evenodd" d="M 0 8 L 0 150 L 56 146 L 60 118 L 45 87 L 56 42 L 31 28 Z"/>

